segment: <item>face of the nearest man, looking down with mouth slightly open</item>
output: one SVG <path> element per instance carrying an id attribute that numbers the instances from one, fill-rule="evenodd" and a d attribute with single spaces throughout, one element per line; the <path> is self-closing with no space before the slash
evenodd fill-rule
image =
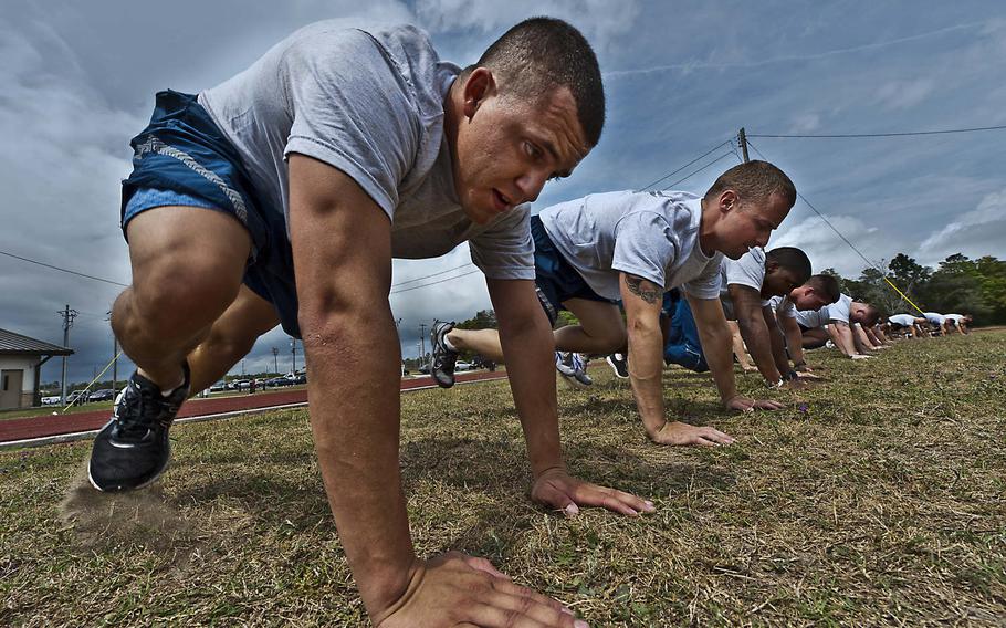
<path id="1" fill-rule="evenodd" d="M 480 72 L 489 74 L 475 70 L 464 86 L 453 170 L 465 214 L 484 224 L 538 198 L 545 181 L 568 176 L 590 148 L 568 88 L 527 102 L 501 95 Z"/>

